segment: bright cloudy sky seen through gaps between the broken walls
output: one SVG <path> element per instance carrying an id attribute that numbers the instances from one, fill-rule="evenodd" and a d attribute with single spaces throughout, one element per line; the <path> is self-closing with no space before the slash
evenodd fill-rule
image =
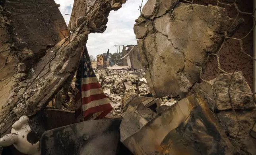
<path id="1" fill-rule="evenodd" d="M 55 2 L 60 4 L 60 12 L 68 24 L 70 16 L 65 14 L 71 14 L 74 0 L 55 0 Z M 138 8 L 141 2 L 142 0 L 127 0 L 121 9 L 110 12 L 107 30 L 103 34 L 89 34 L 87 49 L 90 55 L 106 53 L 108 49 L 110 53 L 114 53 L 117 51 L 114 45 L 137 44 L 133 25 L 140 15 Z M 143 0 L 143 6 L 146 2 L 147 0 Z"/>

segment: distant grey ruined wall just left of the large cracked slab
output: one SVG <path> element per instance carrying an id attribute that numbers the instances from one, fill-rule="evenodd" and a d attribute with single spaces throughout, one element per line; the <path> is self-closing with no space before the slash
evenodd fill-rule
<path id="1" fill-rule="evenodd" d="M 128 49 L 126 49 L 126 47 Z M 123 55 L 123 57 L 127 55 L 122 60 L 123 66 L 131 66 L 134 69 L 142 69 L 143 68 L 142 62 L 140 60 L 139 49 L 138 49 L 137 45 L 124 46 L 123 50 L 122 50 L 122 55 Z"/>

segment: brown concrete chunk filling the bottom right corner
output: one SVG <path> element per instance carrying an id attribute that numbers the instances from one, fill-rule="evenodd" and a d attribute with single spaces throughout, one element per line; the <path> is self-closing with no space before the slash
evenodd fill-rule
<path id="1" fill-rule="evenodd" d="M 237 111 L 236 113 L 238 119 L 232 110 L 221 111 L 217 113 L 217 117 L 221 127 L 231 138 L 231 143 L 236 148 L 235 151 L 244 155 L 254 155 L 256 154 L 256 139 L 250 132 L 253 133 L 252 127 L 256 120 L 256 109 Z M 241 125 L 240 129 L 239 123 Z"/>

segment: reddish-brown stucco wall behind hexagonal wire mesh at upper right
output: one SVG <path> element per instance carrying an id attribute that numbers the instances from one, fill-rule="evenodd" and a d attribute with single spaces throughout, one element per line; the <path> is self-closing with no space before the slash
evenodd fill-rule
<path id="1" fill-rule="evenodd" d="M 222 0 L 223 3 L 231 4 L 230 0 Z M 194 0 L 196 4 L 202 5 L 216 5 L 216 0 Z M 236 4 L 240 11 L 252 13 L 253 11 L 253 0 L 237 0 Z M 219 6 L 226 8 L 228 10 L 228 15 L 231 18 L 235 18 L 237 15 L 237 9 L 235 6 L 227 6 L 223 4 L 219 4 Z M 246 34 L 252 29 L 253 21 L 251 15 L 239 13 L 239 17 L 244 19 L 244 25 L 241 25 L 239 30 L 234 34 L 235 38 L 243 38 Z M 253 33 L 250 33 L 243 41 L 244 52 L 249 55 L 253 55 L 252 49 L 253 43 Z M 240 55 L 240 43 L 237 40 L 226 40 L 223 48 L 219 53 L 219 60 L 221 63 L 221 68 L 227 71 L 228 73 L 234 72 L 236 67 L 236 63 L 239 60 Z M 246 79 L 248 85 L 251 90 L 253 89 L 253 60 L 247 55 L 242 55 L 240 58 L 240 63 L 237 66 L 237 71 L 241 71 L 244 78 Z M 206 67 L 204 68 L 204 73 L 202 74 L 203 79 L 211 80 L 217 77 L 218 68 L 217 68 L 217 60 L 213 57 L 210 58 Z"/>

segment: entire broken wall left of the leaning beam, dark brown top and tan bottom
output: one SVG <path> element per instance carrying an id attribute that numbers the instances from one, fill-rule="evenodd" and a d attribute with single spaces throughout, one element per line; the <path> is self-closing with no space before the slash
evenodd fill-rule
<path id="1" fill-rule="evenodd" d="M 24 89 L 17 84 L 29 76 L 27 72 L 45 55 L 46 50 L 62 40 L 62 34 L 70 34 L 54 0 L 9 0 L 2 5 L 0 112 L 8 105 L 9 98 Z"/>

